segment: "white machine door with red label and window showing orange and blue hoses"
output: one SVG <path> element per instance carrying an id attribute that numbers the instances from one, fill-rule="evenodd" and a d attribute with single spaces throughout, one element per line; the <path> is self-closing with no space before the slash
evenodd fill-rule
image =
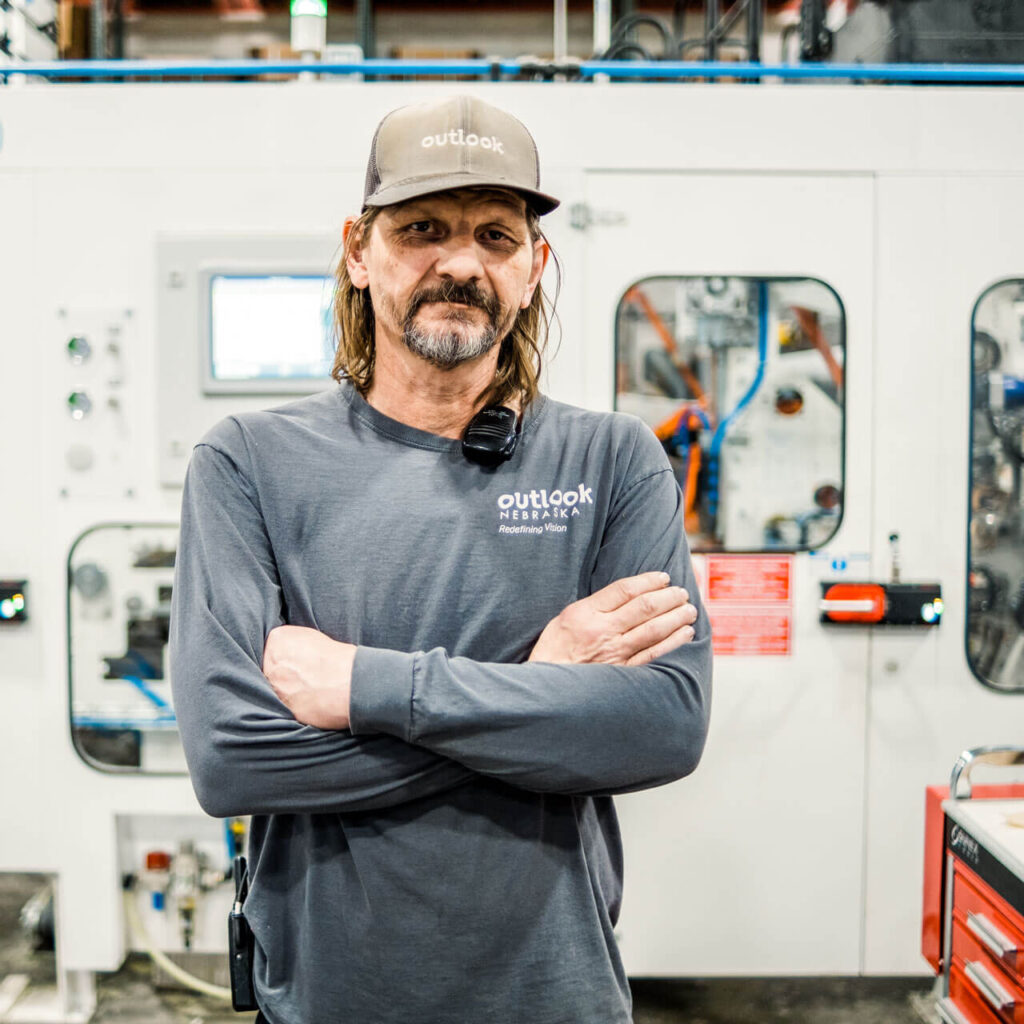
<path id="1" fill-rule="evenodd" d="M 872 179 L 594 171 L 573 220 L 586 343 L 559 361 L 580 345 L 587 404 L 672 435 L 720 599 L 700 767 L 616 802 L 627 970 L 857 973 L 869 640 L 818 606 L 869 556 Z"/>

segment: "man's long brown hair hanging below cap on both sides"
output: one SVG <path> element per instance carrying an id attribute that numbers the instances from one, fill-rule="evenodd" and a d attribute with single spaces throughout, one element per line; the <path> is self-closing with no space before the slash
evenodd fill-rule
<path id="1" fill-rule="evenodd" d="M 362 395 L 374 379 L 376 318 L 370 289 L 356 288 L 348 275 L 348 254 L 353 245 L 369 236 L 379 212 L 379 207 L 370 207 L 352 224 L 335 271 L 334 328 L 338 348 L 331 376 L 336 381 L 347 377 Z M 529 209 L 526 225 L 532 242 L 544 238 L 541 218 Z M 496 404 L 518 396 L 525 409 L 540 391 L 541 368 L 561 288 L 561 266 L 553 250 L 551 255 L 555 264 L 554 300 L 549 300 L 538 286 L 529 305 L 516 313 L 511 330 L 502 338 L 498 368 L 488 390 L 488 400 Z"/>

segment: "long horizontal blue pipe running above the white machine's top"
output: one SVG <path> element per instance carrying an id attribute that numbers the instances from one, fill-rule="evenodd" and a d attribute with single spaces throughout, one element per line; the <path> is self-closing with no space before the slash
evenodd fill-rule
<path id="1" fill-rule="evenodd" d="M 88 80 L 124 78 L 226 78 L 251 75 L 414 76 L 475 75 L 481 79 L 500 78 L 531 72 L 557 72 L 593 79 L 595 75 L 624 80 L 644 79 L 716 79 L 776 78 L 784 81 L 843 79 L 870 82 L 957 82 L 988 84 L 1024 84 L 1024 65 L 860 65 L 799 63 L 768 65 L 750 61 L 696 60 L 584 60 L 580 63 L 554 65 L 548 61 L 521 60 L 50 60 L 0 65 L 0 81 L 10 75 L 46 79 L 84 78 Z"/>

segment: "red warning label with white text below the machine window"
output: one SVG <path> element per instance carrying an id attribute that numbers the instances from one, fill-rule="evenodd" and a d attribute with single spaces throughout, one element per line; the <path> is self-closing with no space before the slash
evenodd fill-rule
<path id="1" fill-rule="evenodd" d="M 717 655 L 793 653 L 793 558 L 708 555 L 694 568 Z"/>

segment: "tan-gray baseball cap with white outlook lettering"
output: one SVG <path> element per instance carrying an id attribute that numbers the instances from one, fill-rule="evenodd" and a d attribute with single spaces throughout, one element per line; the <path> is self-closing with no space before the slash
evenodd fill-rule
<path id="1" fill-rule="evenodd" d="M 451 96 L 385 115 L 370 147 L 362 209 L 480 185 L 517 191 L 538 213 L 558 206 L 540 190 L 525 125 L 475 96 Z"/>

